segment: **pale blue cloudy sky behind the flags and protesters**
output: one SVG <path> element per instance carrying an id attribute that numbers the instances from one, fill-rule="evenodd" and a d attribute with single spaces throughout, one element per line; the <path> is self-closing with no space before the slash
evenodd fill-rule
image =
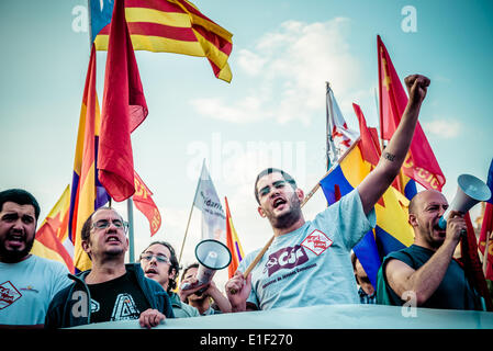
<path id="1" fill-rule="evenodd" d="M 202 159 L 249 252 L 271 236 L 253 196 L 256 174 L 284 168 L 307 193 L 324 174 L 325 81 L 346 121 L 351 103 L 377 125 L 377 34 L 401 79 L 432 79 L 419 121 L 447 178 L 451 201 L 457 177 L 483 180 L 493 157 L 491 1 L 232 1 L 195 5 L 234 34 L 228 84 L 204 58 L 136 53 L 149 115 L 132 135 L 135 168 L 161 216 L 154 237 L 181 246 Z M 401 11 L 412 5 L 416 32 L 404 32 Z M 24 188 L 42 218 L 71 180 L 76 134 L 89 59 L 80 31 L 82 0 L 0 3 L 3 43 L 0 83 L 0 189 Z M 98 53 L 102 99 L 105 53 Z M 117 204 L 125 214 L 125 205 Z M 305 217 L 322 211 L 322 193 Z M 149 242 L 135 211 L 136 252 Z M 193 260 L 200 216 L 193 212 L 184 261 Z M 153 238 L 153 239 L 154 239 Z"/>

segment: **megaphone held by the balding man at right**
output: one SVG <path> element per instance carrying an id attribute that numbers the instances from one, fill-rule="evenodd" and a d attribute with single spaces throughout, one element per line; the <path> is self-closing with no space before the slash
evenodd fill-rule
<path id="1" fill-rule="evenodd" d="M 450 215 L 450 211 L 467 213 L 480 201 L 486 201 L 491 197 L 490 188 L 488 188 L 481 179 L 475 178 L 474 176 L 461 174 L 457 179 L 457 183 L 459 186 L 456 196 L 438 222 L 438 226 L 441 229 L 447 228 L 447 219 Z"/>

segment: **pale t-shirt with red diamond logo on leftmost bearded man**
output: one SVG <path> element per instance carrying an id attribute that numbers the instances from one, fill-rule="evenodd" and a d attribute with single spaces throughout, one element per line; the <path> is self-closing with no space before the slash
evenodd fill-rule
<path id="1" fill-rule="evenodd" d="M 65 264 L 32 254 L 0 262 L 0 325 L 43 325 L 49 302 L 72 281 Z"/>

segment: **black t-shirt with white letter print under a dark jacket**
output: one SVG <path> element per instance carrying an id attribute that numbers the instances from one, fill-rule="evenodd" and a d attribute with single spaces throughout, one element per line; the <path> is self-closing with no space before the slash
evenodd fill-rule
<path id="1" fill-rule="evenodd" d="M 91 322 L 138 319 L 141 313 L 150 308 L 131 272 L 88 286 L 91 293 Z"/>

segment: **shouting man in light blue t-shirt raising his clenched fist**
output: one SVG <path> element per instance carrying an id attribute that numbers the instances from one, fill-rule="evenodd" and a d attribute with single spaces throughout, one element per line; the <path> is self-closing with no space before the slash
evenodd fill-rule
<path id="1" fill-rule="evenodd" d="M 273 168 L 258 174 L 258 213 L 269 219 L 273 240 L 257 264 L 260 250 L 247 254 L 227 281 L 233 312 L 359 303 L 350 250 L 376 226 L 373 206 L 399 174 L 429 83 L 421 75 L 406 77 L 407 106 L 379 163 L 314 220 L 305 222 L 304 193 L 291 176 Z M 251 273 L 245 275 L 247 268 Z"/>

